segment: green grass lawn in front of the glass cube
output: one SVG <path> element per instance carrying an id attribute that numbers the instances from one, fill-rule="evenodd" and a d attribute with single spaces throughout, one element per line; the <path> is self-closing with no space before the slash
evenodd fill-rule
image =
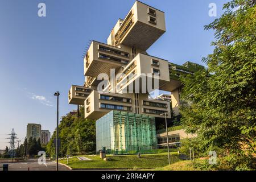
<path id="1" fill-rule="evenodd" d="M 100 156 L 81 155 L 92 160 L 79 160 L 76 156 L 69 159 L 68 166 L 71 168 L 84 169 L 154 169 L 168 165 L 167 153 L 144 154 L 141 158 L 137 155 L 107 155 L 109 161 L 100 159 Z M 171 152 L 171 163 L 179 161 L 177 152 Z M 60 163 L 67 164 L 67 159 L 60 160 Z"/>

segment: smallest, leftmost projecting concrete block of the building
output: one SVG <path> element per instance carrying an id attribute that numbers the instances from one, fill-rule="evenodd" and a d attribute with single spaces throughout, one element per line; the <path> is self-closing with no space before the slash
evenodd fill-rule
<path id="1" fill-rule="evenodd" d="M 85 99 L 92 92 L 92 89 L 84 86 L 72 85 L 68 92 L 68 104 L 84 105 Z"/>

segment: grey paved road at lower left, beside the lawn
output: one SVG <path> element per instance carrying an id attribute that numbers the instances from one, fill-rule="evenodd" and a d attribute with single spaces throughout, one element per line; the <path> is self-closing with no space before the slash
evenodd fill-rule
<path id="1" fill-rule="evenodd" d="M 9 163 L 9 171 L 55 171 L 56 163 L 47 161 L 45 166 L 44 164 L 38 164 L 37 160 L 27 160 L 19 163 Z M 68 171 L 69 169 L 65 166 L 59 164 L 59 171 Z"/>

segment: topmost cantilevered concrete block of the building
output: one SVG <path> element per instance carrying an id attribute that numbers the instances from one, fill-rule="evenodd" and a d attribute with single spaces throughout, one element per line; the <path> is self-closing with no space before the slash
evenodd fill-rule
<path id="1" fill-rule="evenodd" d="M 139 1 L 120 24 L 113 28 L 114 36 L 109 41 L 114 43 L 112 46 L 123 44 L 141 51 L 146 51 L 166 31 L 163 11 Z"/>

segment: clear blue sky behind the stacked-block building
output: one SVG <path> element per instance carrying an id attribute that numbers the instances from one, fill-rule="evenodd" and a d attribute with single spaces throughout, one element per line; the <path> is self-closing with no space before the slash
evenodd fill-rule
<path id="1" fill-rule="evenodd" d="M 46 17 L 38 16 L 38 4 L 46 3 Z M 122 3 L 120 3 L 122 2 Z M 88 40 L 106 42 L 118 18 L 124 18 L 135 1 L 3 1 L 0 0 L 0 148 L 14 128 L 26 136 L 27 123 L 42 129 L 56 126 L 55 91 L 60 92 L 60 115 L 76 109 L 68 105 L 72 84 L 82 85 L 82 52 Z M 212 52 L 213 31 L 204 25 L 216 3 L 217 17 L 223 0 L 142 0 L 165 12 L 166 33 L 148 49 L 150 55 L 172 63 L 201 63 Z"/>

